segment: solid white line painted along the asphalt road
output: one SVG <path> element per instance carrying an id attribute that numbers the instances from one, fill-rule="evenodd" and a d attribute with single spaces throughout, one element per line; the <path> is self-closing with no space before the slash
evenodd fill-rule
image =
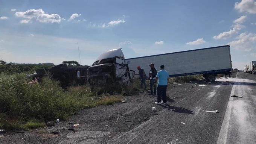
<path id="1" fill-rule="evenodd" d="M 238 73 L 236 73 L 236 77 L 237 77 L 237 74 Z M 226 144 L 227 132 L 228 132 L 228 129 L 229 129 L 229 120 L 230 120 L 231 110 L 232 110 L 232 105 L 233 105 L 233 97 L 231 97 L 231 95 L 235 94 L 236 87 L 237 87 L 237 85 L 233 85 L 233 87 L 232 87 L 229 102 L 227 104 L 226 113 L 225 113 L 225 116 L 224 116 L 224 120 L 222 122 L 221 130 L 219 132 L 219 137 L 218 137 L 217 144 Z"/>

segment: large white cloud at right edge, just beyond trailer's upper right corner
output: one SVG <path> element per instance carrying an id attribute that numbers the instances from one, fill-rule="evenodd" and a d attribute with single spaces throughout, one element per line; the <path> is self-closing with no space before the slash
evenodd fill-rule
<path id="1" fill-rule="evenodd" d="M 237 40 L 229 42 L 231 48 L 240 51 L 250 51 L 256 49 L 256 34 L 255 33 L 241 33 Z"/>

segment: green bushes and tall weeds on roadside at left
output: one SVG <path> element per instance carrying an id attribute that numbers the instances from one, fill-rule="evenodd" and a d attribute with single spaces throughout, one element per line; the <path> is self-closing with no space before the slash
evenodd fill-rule
<path id="1" fill-rule="evenodd" d="M 29 84 L 24 77 L 24 74 L 0 74 L 0 128 L 41 127 L 56 118 L 67 120 L 82 108 L 120 102 L 120 97 L 94 97 L 88 86 L 65 90 L 49 78 Z"/>

